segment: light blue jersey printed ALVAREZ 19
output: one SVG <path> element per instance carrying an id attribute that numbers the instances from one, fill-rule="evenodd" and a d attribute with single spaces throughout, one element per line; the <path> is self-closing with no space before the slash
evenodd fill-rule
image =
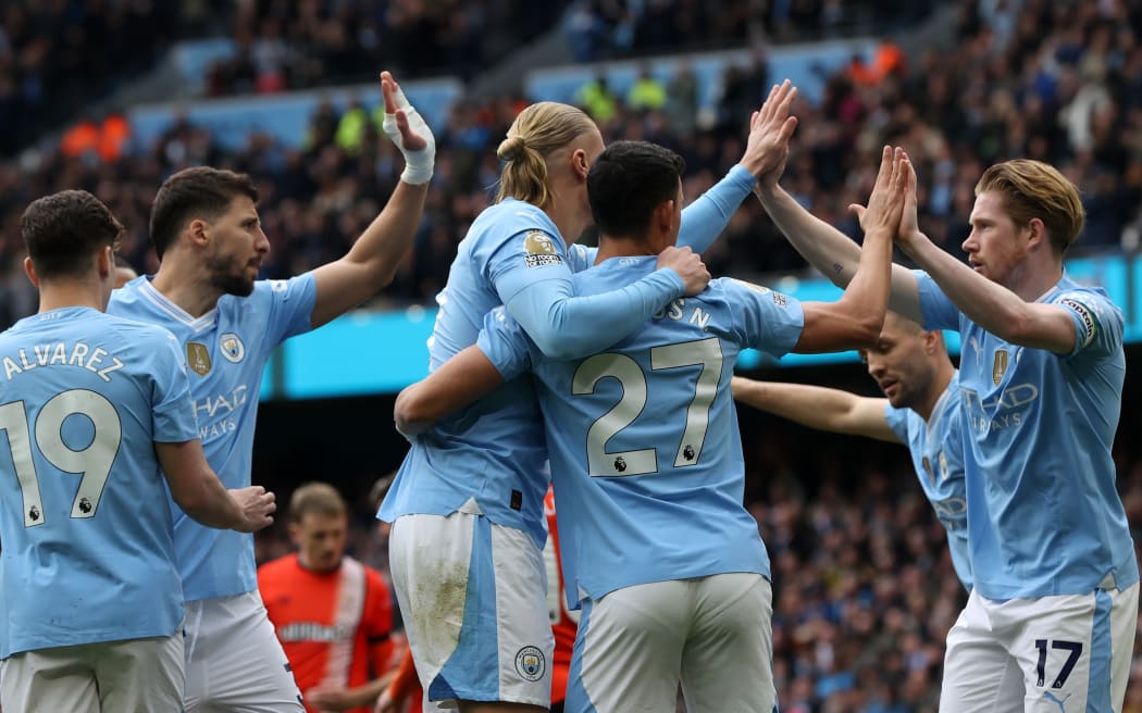
<path id="1" fill-rule="evenodd" d="M 166 330 L 87 307 L 0 334 L 0 656 L 183 621 L 154 443 L 198 437 Z"/>

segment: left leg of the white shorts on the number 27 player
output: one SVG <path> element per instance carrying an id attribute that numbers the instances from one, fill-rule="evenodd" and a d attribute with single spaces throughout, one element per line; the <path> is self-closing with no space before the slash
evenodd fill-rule
<path id="1" fill-rule="evenodd" d="M 673 713 L 693 590 L 693 582 L 674 580 L 585 601 L 566 713 Z"/>

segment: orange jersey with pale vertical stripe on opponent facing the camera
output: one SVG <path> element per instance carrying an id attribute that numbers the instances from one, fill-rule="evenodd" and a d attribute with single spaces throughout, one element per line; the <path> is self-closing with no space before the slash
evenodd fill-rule
<path id="1" fill-rule="evenodd" d="M 303 694 L 355 688 L 388 670 L 393 605 L 375 569 L 345 557 L 333 572 L 311 572 L 288 554 L 258 568 L 258 589 Z"/>

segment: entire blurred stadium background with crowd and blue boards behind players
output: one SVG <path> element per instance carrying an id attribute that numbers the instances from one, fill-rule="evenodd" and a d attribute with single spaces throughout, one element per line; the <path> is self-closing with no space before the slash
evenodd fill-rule
<path id="1" fill-rule="evenodd" d="M 1081 189 L 1071 274 L 1127 318 L 1119 488 L 1142 542 L 1142 2 L 1139 0 L 7 0 L 0 5 L 0 327 L 35 309 L 18 217 L 82 187 L 127 225 L 124 257 L 153 272 L 155 188 L 210 163 L 252 173 L 273 254 L 264 276 L 345 252 L 400 160 L 378 133 L 381 68 L 437 136 L 416 246 L 367 309 L 289 342 L 263 384 L 255 481 L 284 501 L 336 484 L 356 507 L 351 552 L 383 570 L 373 484 L 407 445 L 395 392 L 423 375 L 433 297 L 489 201 L 494 148 L 529 102 L 578 103 L 604 136 L 674 147 L 685 192 L 740 153 L 749 112 L 788 76 L 801 125 L 782 179 L 855 236 L 884 143 L 908 148 L 923 227 L 954 254 L 972 187 L 1030 156 Z M 830 294 L 747 202 L 706 256 L 716 275 Z M 854 355 L 739 371 L 872 394 Z M 942 641 L 964 593 L 902 447 L 822 436 L 742 411 L 747 500 L 774 562 L 782 710 L 935 711 Z M 284 527 L 258 538 L 265 560 Z M 1126 710 L 1142 712 L 1142 663 Z"/>

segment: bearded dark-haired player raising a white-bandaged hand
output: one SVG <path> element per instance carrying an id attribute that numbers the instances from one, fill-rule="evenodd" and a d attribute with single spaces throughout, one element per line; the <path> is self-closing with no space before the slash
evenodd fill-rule
<path id="1" fill-rule="evenodd" d="M 270 251 L 244 175 L 192 168 L 168 178 L 151 211 L 158 274 L 116 290 L 112 314 L 161 324 L 191 367 L 207 459 L 249 485 L 262 374 L 283 340 L 321 326 L 392 281 L 432 177 L 432 132 L 385 72 L 385 133 L 405 160 L 388 204 L 341 259 L 286 281 L 257 281 Z M 187 599 L 188 712 L 295 711 L 297 686 L 257 591 L 254 538 L 204 529 L 175 510 Z"/>

